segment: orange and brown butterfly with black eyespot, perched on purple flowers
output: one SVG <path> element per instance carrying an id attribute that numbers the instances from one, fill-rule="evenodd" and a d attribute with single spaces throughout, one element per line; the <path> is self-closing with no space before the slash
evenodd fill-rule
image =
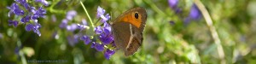
<path id="1" fill-rule="evenodd" d="M 147 20 L 146 9 L 137 7 L 119 15 L 113 23 L 113 41 L 125 56 L 133 55 L 143 44 L 143 30 Z"/>

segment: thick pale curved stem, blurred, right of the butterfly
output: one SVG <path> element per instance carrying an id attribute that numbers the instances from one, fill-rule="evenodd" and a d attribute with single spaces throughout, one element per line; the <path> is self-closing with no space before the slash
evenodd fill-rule
<path id="1" fill-rule="evenodd" d="M 224 49 L 223 49 L 223 47 L 221 45 L 221 41 L 218 37 L 218 32 L 217 32 L 215 26 L 213 26 L 213 24 L 212 24 L 212 18 L 200 0 L 194 0 L 194 2 L 195 2 L 195 5 L 198 7 L 198 9 L 201 10 L 202 15 L 204 16 L 204 18 L 207 22 L 207 26 L 208 26 L 210 32 L 212 32 L 212 38 L 214 40 L 214 43 L 217 45 L 217 49 L 218 49 L 218 57 L 219 57 L 219 59 L 221 59 L 221 63 L 224 64 L 225 63 Z"/>

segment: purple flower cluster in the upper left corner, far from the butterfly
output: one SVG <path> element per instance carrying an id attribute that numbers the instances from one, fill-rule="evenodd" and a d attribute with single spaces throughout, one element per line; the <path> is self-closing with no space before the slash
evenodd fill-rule
<path id="1" fill-rule="evenodd" d="M 32 20 L 33 22 L 29 22 L 26 26 L 25 26 L 25 30 L 27 32 L 29 31 L 33 31 L 35 33 L 38 34 L 38 36 L 41 36 L 41 32 L 39 32 L 39 28 L 41 27 L 41 25 L 38 23 L 38 18 L 39 17 L 43 17 L 46 14 L 46 10 L 43 8 L 43 6 L 40 6 L 38 9 L 36 9 L 36 7 L 31 6 L 29 3 L 26 2 L 27 0 L 15 0 L 16 3 L 12 3 L 12 5 L 10 7 L 7 7 L 7 9 L 9 9 L 9 17 L 11 17 L 12 14 L 15 15 L 24 15 L 25 13 L 27 15 L 22 16 L 22 18 L 20 19 L 21 23 L 26 24 L 28 23 L 30 20 Z M 38 0 L 36 0 L 35 2 L 38 2 Z M 45 0 L 41 0 L 41 2 L 47 3 Z M 24 12 L 22 9 L 20 9 L 20 5 L 23 6 L 23 8 L 25 8 L 27 10 L 27 12 Z M 17 26 L 18 25 L 18 21 L 17 20 L 9 20 L 9 26 L 10 25 L 14 25 Z"/>

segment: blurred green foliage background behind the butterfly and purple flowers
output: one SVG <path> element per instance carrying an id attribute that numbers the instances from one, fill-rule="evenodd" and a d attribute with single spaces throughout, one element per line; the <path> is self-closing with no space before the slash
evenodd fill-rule
<path id="1" fill-rule="evenodd" d="M 31 1 L 31 0 L 27 0 Z M 32 0 L 33 1 L 33 0 Z M 44 7 L 45 18 L 39 18 L 42 36 L 26 32 L 25 25 L 8 25 L 8 6 L 13 0 L 0 2 L 0 62 L 1 63 L 40 63 L 29 61 L 61 61 L 49 63 L 64 64 L 218 64 L 218 63 L 256 63 L 256 0 L 195 0 L 203 4 L 213 26 L 207 25 L 206 17 L 200 20 L 184 19 L 195 3 L 193 0 L 178 0 L 176 13 L 168 0 L 81 0 L 92 20 L 96 19 L 98 6 L 114 20 L 128 9 L 143 7 L 148 19 L 143 32 L 143 46 L 136 54 L 125 56 L 117 50 L 110 60 L 103 52 L 91 49 L 90 45 L 68 44 L 67 37 L 73 32 L 60 29 L 61 20 L 69 10 L 76 10 L 78 15 L 72 21 L 79 23 L 88 17 L 79 0 L 50 0 Z M 52 20 L 53 17 L 56 20 Z M 170 23 L 171 22 L 171 23 Z M 89 22 L 88 22 L 89 23 Z M 220 44 L 212 38 L 211 27 L 217 32 Z M 56 37 L 54 34 L 57 33 Z M 216 35 L 216 34 L 215 34 Z M 221 54 L 223 52 L 224 54 Z M 48 63 L 48 62 L 46 62 Z"/>

